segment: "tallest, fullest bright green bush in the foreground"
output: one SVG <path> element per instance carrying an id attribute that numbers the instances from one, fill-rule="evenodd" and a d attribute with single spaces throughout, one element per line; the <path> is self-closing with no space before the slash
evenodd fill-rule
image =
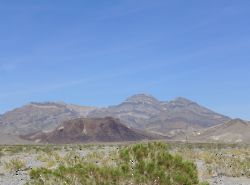
<path id="1" fill-rule="evenodd" d="M 129 146 L 120 151 L 123 173 L 137 184 L 198 184 L 196 166 L 171 155 L 164 143 Z"/>

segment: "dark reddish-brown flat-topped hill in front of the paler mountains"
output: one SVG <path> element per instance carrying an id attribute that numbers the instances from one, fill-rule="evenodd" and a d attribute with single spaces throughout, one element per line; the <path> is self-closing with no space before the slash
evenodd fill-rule
<path id="1" fill-rule="evenodd" d="M 22 138 L 39 143 L 119 142 L 159 138 L 128 128 L 112 117 L 78 118 L 65 121 L 51 132 L 38 132 Z"/>

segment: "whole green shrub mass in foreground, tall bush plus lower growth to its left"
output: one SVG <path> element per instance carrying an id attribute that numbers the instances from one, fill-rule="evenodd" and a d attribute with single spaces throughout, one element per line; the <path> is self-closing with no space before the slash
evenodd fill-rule
<path id="1" fill-rule="evenodd" d="M 113 165 L 79 160 L 56 169 L 33 169 L 30 178 L 30 185 L 199 184 L 196 166 L 179 155 L 171 155 L 167 145 L 160 142 L 124 147 L 117 152 Z"/>

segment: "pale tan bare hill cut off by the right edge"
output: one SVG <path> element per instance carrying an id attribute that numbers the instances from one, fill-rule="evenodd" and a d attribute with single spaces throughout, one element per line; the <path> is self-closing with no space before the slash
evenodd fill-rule
<path id="1" fill-rule="evenodd" d="M 250 124 L 241 119 L 216 125 L 195 133 L 190 140 L 199 142 L 250 143 Z"/>

